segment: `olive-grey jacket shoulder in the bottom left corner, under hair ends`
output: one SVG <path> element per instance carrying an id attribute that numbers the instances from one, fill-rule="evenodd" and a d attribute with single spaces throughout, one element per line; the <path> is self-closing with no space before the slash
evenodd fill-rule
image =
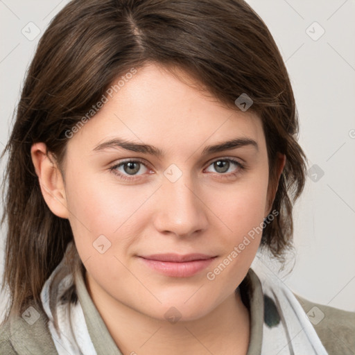
<path id="1" fill-rule="evenodd" d="M 0 354 L 58 354 L 47 322 L 44 311 L 29 302 L 24 313 L 1 324 Z"/>

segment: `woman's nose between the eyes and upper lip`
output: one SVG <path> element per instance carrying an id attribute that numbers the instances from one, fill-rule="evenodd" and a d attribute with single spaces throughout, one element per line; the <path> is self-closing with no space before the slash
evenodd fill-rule
<path id="1" fill-rule="evenodd" d="M 200 189 L 183 174 L 178 181 L 164 179 L 155 196 L 154 225 L 162 234 L 188 237 L 207 229 L 208 208 Z"/>

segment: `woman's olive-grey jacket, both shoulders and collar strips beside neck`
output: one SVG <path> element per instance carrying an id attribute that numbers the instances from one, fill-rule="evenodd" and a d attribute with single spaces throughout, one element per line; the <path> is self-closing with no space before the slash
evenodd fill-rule
<path id="1" fill-rule="evenodd" d="M 257 275 L 254 272 L 248 272 L 247 277 L 251 279 L 254 285 L 252 297 L 250 297 L 249 301 L 251 331 L 247 355 L 259 355 L 261 354 L 263 338 L 263 293 Z M 97 354 L 122 355 L 110 336 L 96 306 L 94 306 L 82 275 L 76 277 L 76 290 L 85 315 L 87 329 Z M 355 354 L 355 312 L 342 311 L 323 304 L 316 304 L 305 300 L 295 293 L 294 295 L 300 302 L 304 312 L 308 313 L 307 315 L 311 322 L 314 311 L 318 311 L 313 309 L 313 307 L 318 307 L 324 313 L 324 318 L 320 322 L 312 322 L 312 324 L 328 354 Z M 36 317 L 31 322 L 26 321 L 26 315 L 30 313 L 24 312 L 22 316 L 8 320 L 0 328 L 1 355 L 58 354 L 46 325 L 48 322 L 46 314 L 33 303 L 29 303 L 28 307 L 30 306 L 33 306 L 38 312 L 35 312 Z"/>

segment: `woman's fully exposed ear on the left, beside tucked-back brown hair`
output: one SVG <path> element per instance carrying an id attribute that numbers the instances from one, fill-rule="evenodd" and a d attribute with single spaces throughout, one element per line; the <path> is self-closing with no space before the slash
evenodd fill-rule
<path id="1" fill-rule="evenodd" d="M 55 216 L 68 218 L 64 179 L 55 158 L 51 153 L 47 153 L 44 143 L 32 145 L 31 157 L 47 206 Z"/>

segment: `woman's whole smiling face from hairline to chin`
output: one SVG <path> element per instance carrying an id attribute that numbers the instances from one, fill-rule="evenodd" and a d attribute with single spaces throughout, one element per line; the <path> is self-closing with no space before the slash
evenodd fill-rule
<path id="1" fill-rule="evenodd" d="M 69 139 L 64 161 L 91 291 L 162 320 L 171 307 L 198 319 L 233 295 L 269 212 L 261 120 L 183 81 L 139 69 Z"/>

